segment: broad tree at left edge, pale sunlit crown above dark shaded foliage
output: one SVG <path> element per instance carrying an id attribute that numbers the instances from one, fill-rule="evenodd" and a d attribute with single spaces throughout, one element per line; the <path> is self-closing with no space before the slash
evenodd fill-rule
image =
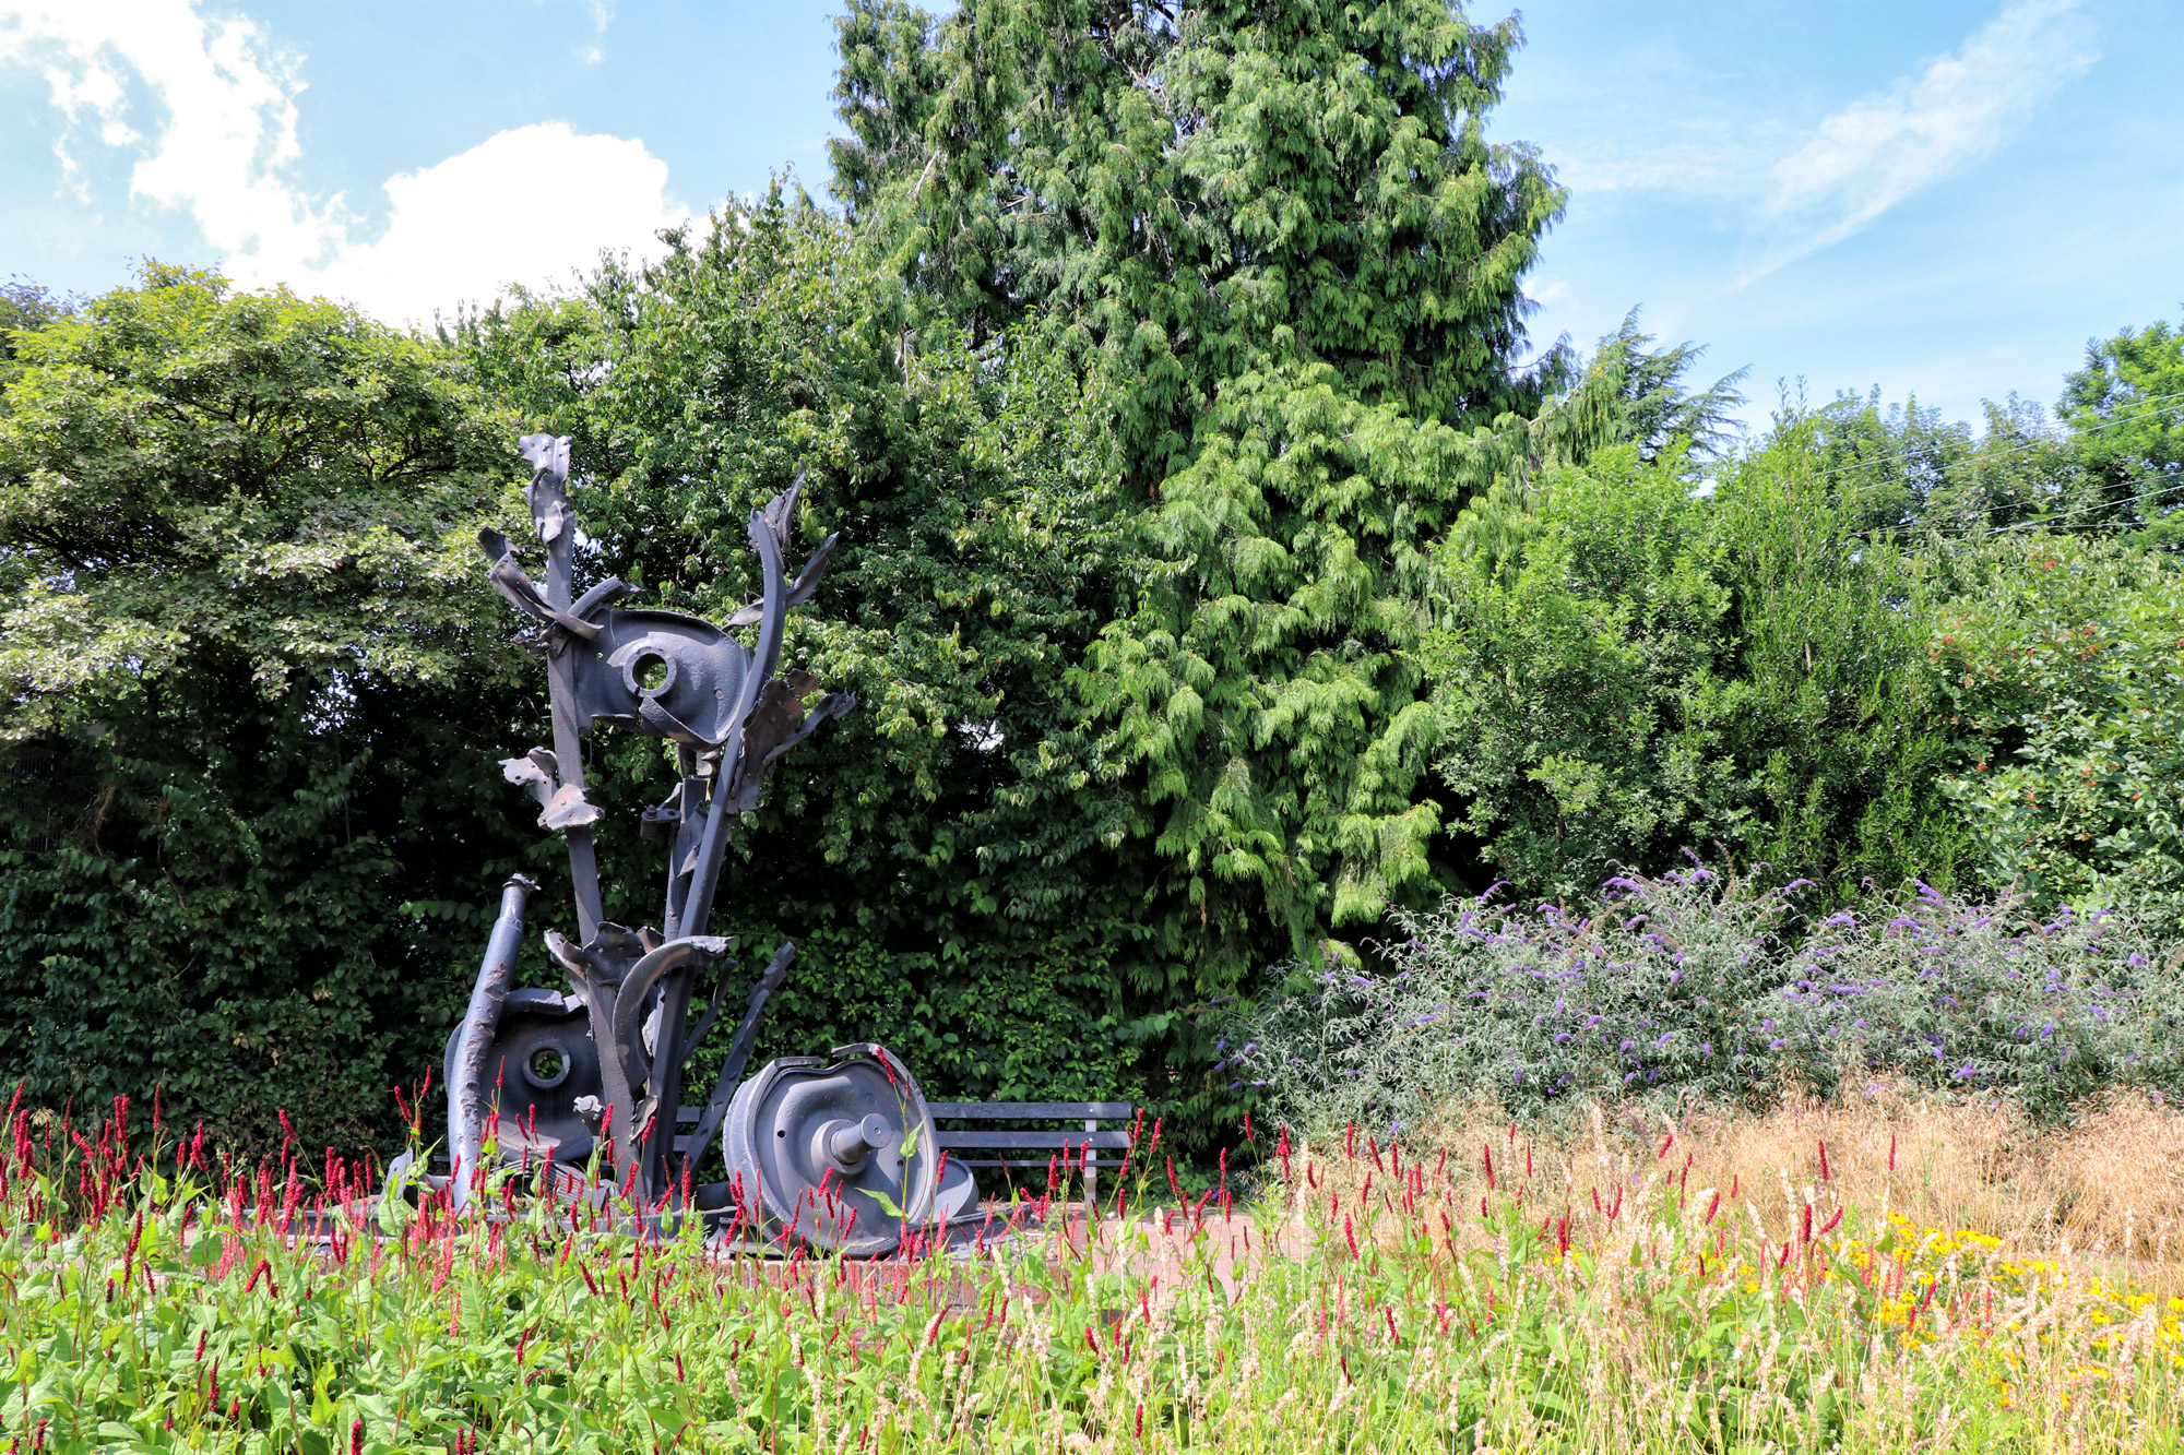
<path id="1" fill-rule="evenodd" d="M 509 422 L 441 352 L 179 269 L 13 339 L 0 1064 L 352 1143 L 476 955 L 400 904 L 515 867 L 476 784 L 518 664 L 461 555 Z"/>

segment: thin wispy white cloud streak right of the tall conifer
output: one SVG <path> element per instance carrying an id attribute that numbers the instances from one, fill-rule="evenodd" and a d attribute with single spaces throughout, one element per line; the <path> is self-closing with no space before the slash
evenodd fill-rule
<path id="1" fill-rule="evenodd" d="M 1839 242 L 1992 153 L 2097 52 L 2077 0 L 2011 0 L 1961 50 L 1850 103 L 1773 166 L 1760 205 L 1778 245 L 1760 273 Z"/>

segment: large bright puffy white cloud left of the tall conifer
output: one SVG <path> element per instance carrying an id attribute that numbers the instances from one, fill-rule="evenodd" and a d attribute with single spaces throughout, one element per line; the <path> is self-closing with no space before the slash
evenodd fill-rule
<path id="1" fill-rule="evenodd" d="M 612 7 L 594 4 L 605 26 Z M 301 170 L 301 63 L 251 20 L 190 0 L 0 0 L 0 66 L 28 66 L 66 129 L 61 181 L 90 201 L 72 146 L 135 151 L 131 194 L 192 216 L 247 286 L 284 282 L 387 319 L 430 319 L 509 282 L 563 280 L 605 249 L 644 251 L 688 216 L 642 140 L 566 122 L 518 127 L 387 181 L 378 238 Z M 149 131 L 149 140 L 140 135 Z"/>

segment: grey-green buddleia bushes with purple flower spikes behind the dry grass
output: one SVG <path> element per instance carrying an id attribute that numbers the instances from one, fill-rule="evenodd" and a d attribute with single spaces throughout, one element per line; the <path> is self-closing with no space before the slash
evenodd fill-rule
<path id="1" fill-rule="evenodd" d="M 1317 1136 L 1468 1108 L 1760 1108 L 1887 1075 L 2060 1121 L 2118 1086 L 2184 1092 L 2184 979 L 2147 926 L 2025 900 L 1863 894 L 1815 924 L 1706 865 L 1538 911 L 1444 904 L 1358 968 L 1299 966 L 1225 1073 Z M 1804 931 L 1804 933 L 1800 933 Z"/>

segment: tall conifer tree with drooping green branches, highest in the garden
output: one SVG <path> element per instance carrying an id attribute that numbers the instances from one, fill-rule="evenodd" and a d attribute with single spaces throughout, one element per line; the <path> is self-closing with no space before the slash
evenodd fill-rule
<path id="1" fill-rule="evenodd" d="M 1605 426 L 1564 347 L 1527 360 L 1564 192 L 1485 138 L 1518 42 L 1446 0 L 841 22 L 834 190 L 904 282 L 904 365 L 935 319 L 1029 317 L 1114 400 L 1160 568 L 1077 690 L 1142 773 L 1118 850 L 1151 850 L 1166 1005 L 1431 883 L 1431 542 Z"/>

